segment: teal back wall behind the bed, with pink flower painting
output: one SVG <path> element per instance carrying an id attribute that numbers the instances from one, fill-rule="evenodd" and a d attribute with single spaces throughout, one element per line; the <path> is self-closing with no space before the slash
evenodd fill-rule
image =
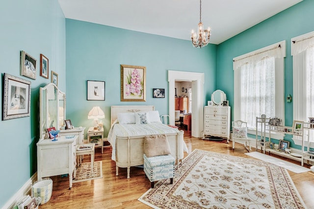
<path id="1" fill-rule="evenodd" d="M 111 105 L 155 105 L 160 114 L 168 114 L 168 70 L 203 72 L 205 105 L 216 85 L 216 48 L 200 49 L 186 40 L 67 19 L 66 115 L 74 126 L 90 127 L 87 114 L 100 106 L 107 136 Z M 146 102 L 120 101 L 120 64 L 146 67 Z M 105 81 L 105 101 L 86 99 L 87 80 Z M 153 98 L 153 88 L 164 88 L 165 98 Z"/>

